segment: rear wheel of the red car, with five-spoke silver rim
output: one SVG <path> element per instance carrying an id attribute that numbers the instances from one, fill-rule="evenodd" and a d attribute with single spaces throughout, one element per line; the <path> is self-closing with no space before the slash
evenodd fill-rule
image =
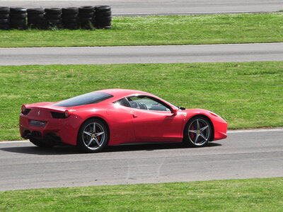
<path id="1" fill-rule="evenodd" d="M 79 129 L 76 145 L 84 153 L 97 153 L 108 144 L 108 135 L 108 129 L 103 122 L 98 119 L 88 119 Z"/>

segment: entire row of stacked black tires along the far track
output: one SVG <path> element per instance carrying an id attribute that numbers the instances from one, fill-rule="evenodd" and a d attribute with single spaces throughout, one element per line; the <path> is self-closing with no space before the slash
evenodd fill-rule
<path id="1" fill-rule="evenodd" d="M 0 7 L 0 30 L 24 30 L 26 28 L 109 29 L 111 21 L 110 6 L 28 9 Z"/>

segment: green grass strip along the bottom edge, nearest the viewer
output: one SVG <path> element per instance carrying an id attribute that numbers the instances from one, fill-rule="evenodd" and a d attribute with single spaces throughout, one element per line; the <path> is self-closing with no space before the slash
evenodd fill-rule
<path id="1" fill-rule="evenodd" d="M 0 192 L 0 211 L 283 211 L 283 178 Z"/>

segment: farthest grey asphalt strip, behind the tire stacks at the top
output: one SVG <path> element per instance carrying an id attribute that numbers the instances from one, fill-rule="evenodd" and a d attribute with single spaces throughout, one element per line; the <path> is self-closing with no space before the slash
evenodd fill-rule
<path id="1" fill-rule="evenodd" d="M 116 16 L 204 14 L 204 13 L 241 13 L 270 12 L 283 9 L 280 0 L 112 0 L 112 1 L 57 1 L 57 0 L 9 0 L 0 1 L 1 6 L 64 7 L 110 5 Z"/>

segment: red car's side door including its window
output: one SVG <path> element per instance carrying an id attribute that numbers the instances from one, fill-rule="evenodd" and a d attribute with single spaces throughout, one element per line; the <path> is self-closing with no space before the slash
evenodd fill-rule
<path id="1" fill-rule="evenodd" d="M 132 107 L 134 135 L 141 141 L 182 141 L 183 117 L 156 98 L 141 95 L 127 98 Z"/>

